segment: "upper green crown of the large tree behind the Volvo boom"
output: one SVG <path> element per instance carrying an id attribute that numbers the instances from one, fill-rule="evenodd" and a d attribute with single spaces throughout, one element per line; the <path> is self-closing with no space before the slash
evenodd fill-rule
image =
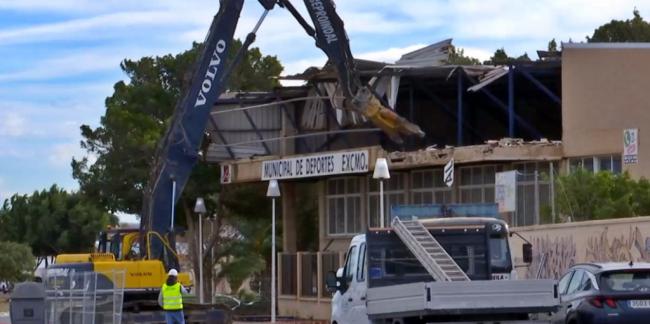
<path id="1" fill-rule="evenodd" d="M 73 177 L 81 191 L 110 211 L 139 213 L 158 141 L 170 122 L 176 102 L 189 85 L 199 44 L 178 55 L 124 60 L 128 82 L 119 81 L 106 99 L 101 126 L 81 126 L 82 148 L 97 156 L 73 160 Z M 229 61 L 241 47 L 234 41 Z M 282 65 L 275 56 L 250 49 L 233 71 L 226 89 L 270 90 L 278 86 Z M 213 182 L 214 183 L 214 182 Z"/>

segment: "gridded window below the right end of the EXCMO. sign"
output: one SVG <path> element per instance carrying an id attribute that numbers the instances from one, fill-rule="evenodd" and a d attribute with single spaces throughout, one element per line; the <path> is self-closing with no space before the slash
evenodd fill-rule
<path id="1" fill-rule="evenodd" d="M 327 181 L 329 234 L 356 234 L 361 230 L 360 178 Z"/>

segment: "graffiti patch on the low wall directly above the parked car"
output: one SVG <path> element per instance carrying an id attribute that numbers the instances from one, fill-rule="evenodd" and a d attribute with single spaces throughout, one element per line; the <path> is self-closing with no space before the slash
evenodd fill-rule
<path id="1" fill-rule="evenodd" d="M 586 261 L 594 262 L 629 262 L 649 261 L 649 238 L 645 237 L 638 226 L 630 226 L 627 234 L 609 238 L 608 228 L 587 241 Z"/>

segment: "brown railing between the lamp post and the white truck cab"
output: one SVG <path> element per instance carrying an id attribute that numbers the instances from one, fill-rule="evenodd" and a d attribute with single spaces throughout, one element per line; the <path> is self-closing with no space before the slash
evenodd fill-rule
<path id="1" fill-rule="evenodd" d="M 278 287 L 282 299 L 329 301 L 325 274 L 344 262 L 344 252 L 279 253 Z"/>

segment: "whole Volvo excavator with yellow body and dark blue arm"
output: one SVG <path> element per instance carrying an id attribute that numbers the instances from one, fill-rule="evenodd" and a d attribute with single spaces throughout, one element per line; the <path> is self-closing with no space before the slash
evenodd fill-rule
<path id="1" fill-rule="evenodd" d="M 170 125 L 159 143 L 150 180 L 145 189 L 140 227 L 110 229 L 100 233 L 96 251 L 88 254 L 61 254 L 53 268 L 125 273 L 125 308 L 142 309 L 155 297 L 169 269 L 179 269 L 175 250 L 174 209 L 199 157 L 209 114 L 224 91 L 230 73 L 255 40 L 262 21 L 274 7 L 288 10 L 315 39 L 316 46 L 335 67 L 345 96 L 344 109 L 360 113 L 390 139 L 424 136 L 420 128 L 386 107 L 372 86 L 361 82 L 350 51 L 343 21 L 332 0 L 304 0 L 313 27 L 289 0 L 258 0 L 264 12 L 232 61 L 226 59 L 244 0 L 221 0 L 194 66 L 193 77 L 184 97 L 177 104 Z M 179 281 L 192 286 L 188 272 Z M 135 306 L 134 306 L 135 305 Z M 124 310 L 125 313 L 130 310 Z M 187 314 L 186 314 L 187 315 Z"/>

